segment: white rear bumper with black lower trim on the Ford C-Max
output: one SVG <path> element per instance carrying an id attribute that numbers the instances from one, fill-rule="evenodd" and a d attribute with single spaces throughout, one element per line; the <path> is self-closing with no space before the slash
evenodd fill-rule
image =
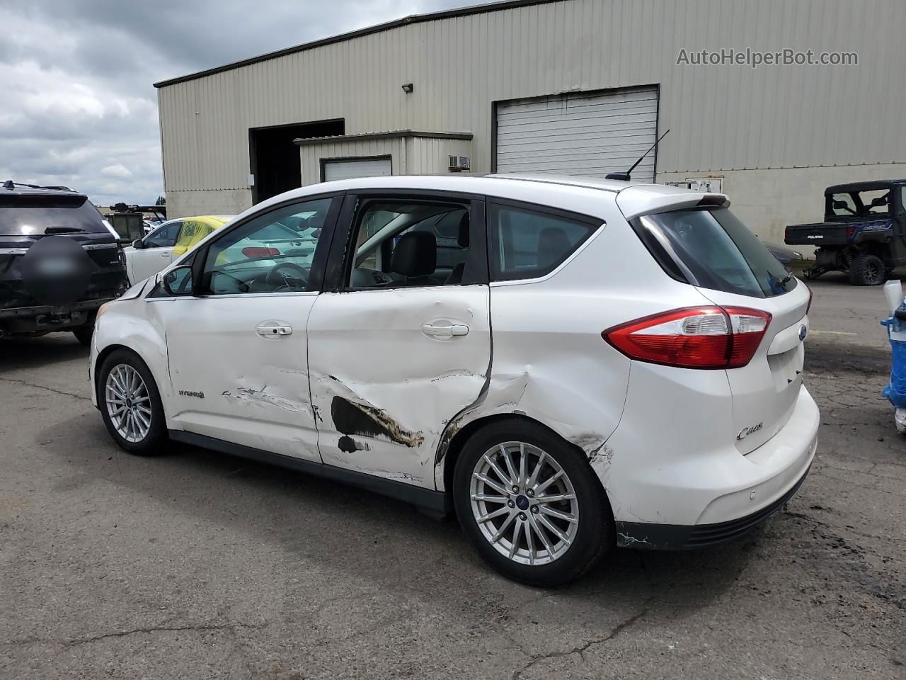
<path id="1" fill-rule="evenodd" d="M 694 413 L 681 415 L 697 422 Z M 729 413 L 722 420 L 728 422 Z M 699 430 L 697 439 L 684 438 L 671 428 L 620 432 L 621 423 L 609 440 L 612 465 L 602 476 L 618 545 L 696 548 L 741 536 L 782 508 L 805 480 L 818 423 L 818 407 L 805 387 L 786 424 L 747 455 L 724 436 Z"/>

